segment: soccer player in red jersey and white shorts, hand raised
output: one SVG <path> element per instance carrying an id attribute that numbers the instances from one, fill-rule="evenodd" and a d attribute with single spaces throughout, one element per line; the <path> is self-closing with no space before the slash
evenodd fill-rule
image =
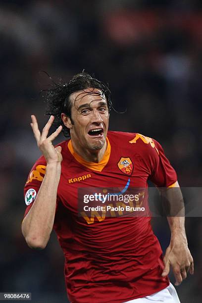
<path id="1" fill-rule="evenodd" d="M 194 272 L 183 216 L 168 217 L 171 240 L 163 258 L 150 216 L 78 215 L 79 189 L 147 188 L 148 180 L 178 187 L 162 147 L 141 134 L 108 131 L 108 86 L 84 72 L 55 84 L 46 97 L 50 119 L 42 133 L 31 116 L 43 155 L 24 188 L 22 233 L 28 246 L 44 249 L 55 230 L 72 303 L 179 302 L 167 277 L 170 266 L 176 285 Z M 49 136 L 52 124 L 57 129 Z M 54 147 L 61 131 L 68 140 Z"/>

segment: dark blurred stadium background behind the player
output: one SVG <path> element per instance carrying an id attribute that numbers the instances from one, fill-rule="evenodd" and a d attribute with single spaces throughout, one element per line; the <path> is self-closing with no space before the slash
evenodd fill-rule
<path id="1" fill-rule="evenodd" d="M 63 255 L 52 235 L 44 251 L 21 235 L 23 186 L 39 157 L 30 127 L 43 128 L 39 91 L 52 77 L 83 68 L 108 82 L 110 129 L 158 140 L 181 186 L 202 184 L 201 0 L 0 1 L 0 292 L 32 292 L 34 303 L 67 302 Z M 63 140 L 62 135 L 59 140 Z M 153 220 L 165 251 L 169 232 Z M 202 302 L 202 220 L 187 218 L 195 275 L 177 289 L 182 303 Z M 171 275 L 171 281 L 174 279 Z"/>

